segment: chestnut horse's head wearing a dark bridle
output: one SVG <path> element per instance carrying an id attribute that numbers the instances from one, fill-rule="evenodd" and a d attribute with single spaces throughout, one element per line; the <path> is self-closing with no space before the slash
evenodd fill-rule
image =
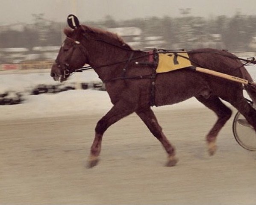
<path id="1" fill-rule="evenodd" d="M 82 26 L 79 25 L 78 20 L 75 22 L 74 16 L 73 20 L 71 19 L 71 23 L 73 23 L 71 28 L 74 28 L 74 30 L 64 29 L 66 39 L 59 50 L 50 73 L 54 80 L 60 82 L 65 81 L 71 73 L 87 63 L 87 51 L 81 44 L 83 38 Z"/>

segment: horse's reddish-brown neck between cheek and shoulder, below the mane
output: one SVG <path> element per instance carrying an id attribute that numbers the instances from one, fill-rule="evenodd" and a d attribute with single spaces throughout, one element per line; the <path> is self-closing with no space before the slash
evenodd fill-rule
<path id="1" fill-rule="evenodd" d="M 93 45 L 88 48 L 89 64 L 103 82 L 118 77 L 125 66 L 124 61 L 129 59 L 132 50 L 121 49 L 104 42 L 96 44 L 100 47 Z"/>

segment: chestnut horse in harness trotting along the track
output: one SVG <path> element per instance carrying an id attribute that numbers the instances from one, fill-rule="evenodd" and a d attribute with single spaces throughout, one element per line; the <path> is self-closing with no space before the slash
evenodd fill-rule
<path id="1" fill-rule="evenodd" d="M 170 105 L 196 97 L 215 112 L 218 120 L 206 136 L 210 155 L 216 151 L 218 132 L 232 114 L 230 108 L 220 99 L 230 102 L 256 129 L 256 111 L 244 99 L 242 84 L 189 69 L 158 73 L 153 82 L 152 66 L 147 63 L 135 64 L 135 61 L 148 62 L 150 54 L 133 50 L 118 35 L 85 25 L 78 25 L 74 29 L 66 28 L 64 33 L 66 39 L 51 69 L 53 79 L 62 82 L 70 73 L 84 64 L 89 64 L 106 84 L 106 91 L 113 104 L 109 112 L 97 122 L 88 167 L 95 166 L 99 161 L 101 141 L 106 129 L 133 112 L 162 143 L 168 154 L 166 166 L 174 166 L 177 163 L 174 146 L 162 132 L 150 108 L 152 93 L 156 106 Z M 194 66 L 252 80 L 241 61 L 227 51 L 191 50 L 188 51 L 188 56 Z M 244 87 L 255 102 L 256 90 L 247 85 Z"/>

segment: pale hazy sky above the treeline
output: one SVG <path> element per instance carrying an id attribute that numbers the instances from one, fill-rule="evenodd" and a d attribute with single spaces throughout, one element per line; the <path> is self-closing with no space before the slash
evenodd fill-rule
<path id="1" fill-rule="evenodd" d="M 44 18 L 65 21 L 70 13 L 80 21 L 103 20 L 111 15 L 116 20 L 177 17 L 179 9 L 191 8 L 191 15 L 210 17 L 256 15 L 256 0 L 0 0 L 0 25 L 32 23 L 32 14 L 44 13 Z"/>

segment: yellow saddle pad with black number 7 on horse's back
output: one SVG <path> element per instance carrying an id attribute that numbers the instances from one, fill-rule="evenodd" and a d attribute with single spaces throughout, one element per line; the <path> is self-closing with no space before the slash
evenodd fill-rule
<path id="1" fill-rule="evenodd" d="M 159 61 L 156 68 L 156 73 L 165 73 L 172 70 L 178 70 L 184 67 L 192 66 L 188 57 L 188 53 L 183 52 L 177 54 L 178 55 L 175 55 L 174 53 L 159 53 Z"/>

